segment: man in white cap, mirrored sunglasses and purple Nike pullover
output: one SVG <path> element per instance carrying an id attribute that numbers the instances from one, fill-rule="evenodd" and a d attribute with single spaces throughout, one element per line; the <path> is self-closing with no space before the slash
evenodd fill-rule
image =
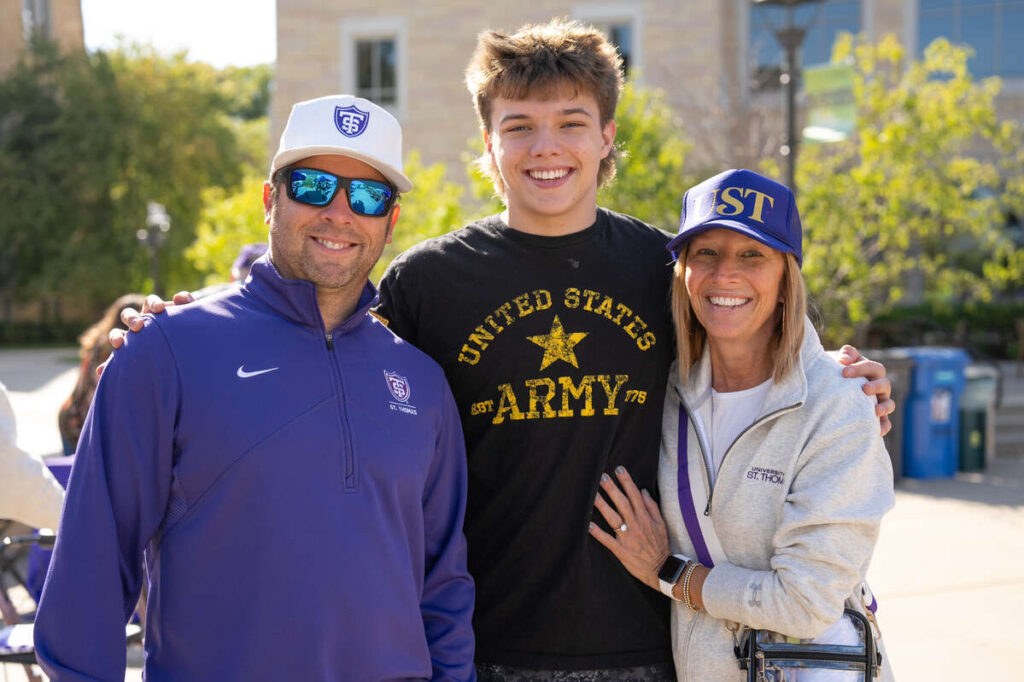
<path id="1" fill-rule="evenodd" d="M 459 417 L 370 314 L 411 188 L 387 112 L 294 106 L 269 256 L 103 373 L 36 621 L 51 679 L 123 679 L 143 554 L 151 682 L 473 679 Z"/>

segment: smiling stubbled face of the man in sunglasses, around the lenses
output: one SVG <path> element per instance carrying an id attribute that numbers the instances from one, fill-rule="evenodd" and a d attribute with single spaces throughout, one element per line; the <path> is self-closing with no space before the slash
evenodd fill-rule
<path id="1" fill-rule="evenodd" d="M 323 155 L 296 165 L 347 178 L 386 181 L 375 168 L 349 157 Z M 265 183 L 263 207 L 274 267 L 283 278 L 312 282 L 322 307 L 325 297 L 351 300 L 354 306 L 384 245 L 391 241 L 398 217 L 397 205 L 380 218 L 353 213 L 342 188 L 328 206 L 316 207 L 289 199 L 285 187 L 271 191 Z"/>

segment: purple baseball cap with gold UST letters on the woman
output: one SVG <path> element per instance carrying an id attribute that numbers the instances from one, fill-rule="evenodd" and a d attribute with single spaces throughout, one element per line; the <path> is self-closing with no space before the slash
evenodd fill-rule
<path id="1" fill-rule="evenodd" d="M 797 199 L 784 184 L 749 170 L 727 170 L 683 196 L 679 233 L 669 242 L 675 260 L 686 242 L 701 232 L 725 227 L 776 251 L 792 253 L 803 265 L 803 227 Z"/>

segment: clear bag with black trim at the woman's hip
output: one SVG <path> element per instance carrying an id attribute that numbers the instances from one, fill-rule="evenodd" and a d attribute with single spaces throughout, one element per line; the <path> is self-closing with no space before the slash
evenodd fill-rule
<path id="1" fill-rule="evenodd" d="M 748 682 L 793 682 L 793 673 L 801 670 L 847 671 L 843 679 L 871 682 L 882 667 L 870 624 L 852 608 L 843 612 L 858 631 L 860 644 L 788 643 L 770 630 L 748 629 L 734 646 L 739 668 L 746 671 Z M 799 682 L 799 680 L 798 680 Z"/>

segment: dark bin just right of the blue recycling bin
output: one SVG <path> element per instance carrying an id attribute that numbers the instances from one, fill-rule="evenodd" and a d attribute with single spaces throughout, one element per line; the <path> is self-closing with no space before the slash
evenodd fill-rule
<path id="1" fill-rule="evenodd" d="M 995 456 L 995 394 L 999 371 L 969 365 L 961 398 L 961 471 L 980 471 Z"/>

